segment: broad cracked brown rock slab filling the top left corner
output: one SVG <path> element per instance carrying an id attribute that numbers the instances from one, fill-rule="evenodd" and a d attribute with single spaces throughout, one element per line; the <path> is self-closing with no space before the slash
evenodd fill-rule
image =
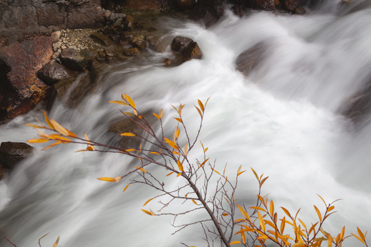
<path id="1" fill-rule="evenodd" d="M 0 47 L 55 30 L 104 23 L 100 0 L 0 1 Z"/>

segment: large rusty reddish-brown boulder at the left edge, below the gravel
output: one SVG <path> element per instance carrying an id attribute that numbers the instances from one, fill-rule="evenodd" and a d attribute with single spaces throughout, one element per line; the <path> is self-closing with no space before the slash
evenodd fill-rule
<path id="1" fill-rule="evenodd" d="M 0 49 L 0 122 L 26 113 L 47 98 L 49 86 L 36 74 L 52 54 L 49 37 L 35 37 Z"/>

